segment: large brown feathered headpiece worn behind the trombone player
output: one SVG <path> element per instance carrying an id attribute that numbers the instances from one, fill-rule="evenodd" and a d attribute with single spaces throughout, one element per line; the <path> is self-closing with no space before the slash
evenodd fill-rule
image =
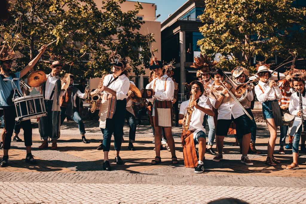
<path id="1" fill-rule="evenodd" d="M 199 69 L 200 72 L 209 73 L 211 71 L 211 67 L 215 67 L 219 62 L 212 61 L 211 57 L 208 57 L 207 54 L 200 54 L 200 57 L 194 57 L 194 61 L 190 67 Z"/>

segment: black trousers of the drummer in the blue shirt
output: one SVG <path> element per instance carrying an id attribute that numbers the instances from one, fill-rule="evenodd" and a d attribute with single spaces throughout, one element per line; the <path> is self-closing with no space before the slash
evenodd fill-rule
<path id="1" fill-rule="evenodd" d="M 16 109 L 15 106 L 6 106 L 3 108 L 4 111 L 4 139 L 3 139 L 3 149 L 9 150 L 11 147 L 11 140 L 15 126 Z M 31 120 L 21 121 L 20 125 L 24 131 L 24 145 L 32 146 L 32 124 Z"/>

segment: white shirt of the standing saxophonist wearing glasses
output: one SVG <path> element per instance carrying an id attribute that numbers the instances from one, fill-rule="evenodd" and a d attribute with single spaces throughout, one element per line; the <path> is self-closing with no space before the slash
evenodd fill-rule
<path id="1" fill-rule="evenodd" d="M 107 86 L 107 84 L 112 80 L 114 80 L 114 76 L 112 74 L 106 75 L 103 80 L 103 86 Z M 123 100 L 127 97 L 126 95 L 129 92 L 129 87 L 130 87 L 129 78 L 123 74 L 119 76 L 117 80 L 110 83 L 108 87 L 116 91 L 117 100 Z M 110 94 L 108 91 L 104 91 L 104 93 Z"/>

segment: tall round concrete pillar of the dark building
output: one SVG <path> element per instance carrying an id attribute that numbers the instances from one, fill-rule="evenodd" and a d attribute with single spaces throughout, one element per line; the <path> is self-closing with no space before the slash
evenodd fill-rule
<path id="1" fill-rule="evenodd" d="M 185 71 L 185 61 L 186 61 L 186 46 L 185 46 L 185 31 L 180 31 L 180 72 L 181 72 L 181 87 L 180 93 L 184 93 L 185 85 L 182 83 L 186 82 L 186 71 Z"/>

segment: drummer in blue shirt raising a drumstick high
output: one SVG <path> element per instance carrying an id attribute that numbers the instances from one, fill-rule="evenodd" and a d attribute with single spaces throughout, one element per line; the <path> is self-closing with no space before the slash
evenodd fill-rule
<path id="1" fill-rule="evenodd" d="M 3 158 L 0 161 L 0 167 L 6 167 L 8 165 L 9 159 L 9 149 L 11 146 L 11 139 L 13 135 L 14 125 L 15 125 L 15 118 L 17 117 L 16 109 L 12 98 L 14 97 L 13 88 L 15 86 L 18 88 L 20 94 L 21 88 L 19 85 L 19 80 L 27 74 L 39 58 L 42 56 L 44 51 L 47 48 L 47 45 L 43 45 L 41 47 L 41 51 L 39 54 L 20 72 L 12 73 L 12 62 L 13 58 L 15 57 L 15 53 L 9 47 L 5 47 L 0 55 L 0 107 L 3 108 L 4 112 L 4 124 L 5 124 L 5 132 L 3 138 Z M 12 80 L 15 86 L 10 81 L 4 81 L 5 79 Z M 17 79 L 17 80 L 14 80 Z M 22 95 L 20 95 L 21 97 Z M 31 146 L 32 146 L 32 125 L 30 120 L 24 120 L 20 122 L 22 128 L 24 130 L 24 145 L 26 146 L 27 155 L 25 158 L 25 162 L 29 164 L 36 164 L 36 160 L 33 158 L 31 154 Z"/>

